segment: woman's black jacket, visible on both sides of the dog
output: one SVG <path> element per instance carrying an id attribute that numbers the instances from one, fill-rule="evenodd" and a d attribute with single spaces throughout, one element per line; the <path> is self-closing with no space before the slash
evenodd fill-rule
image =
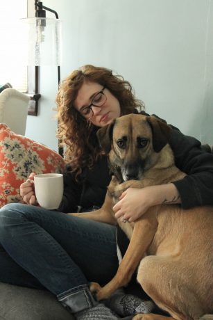
<path id="1" fill-rule="evenodd" d="M 143 112 L 144 113 L 144 112 Z M 146 114 L 146 113 L 144 113 Z M 213 154 L 204 152 L 201 143 L 171 127 L 169 144 L 175 156 L 176 166 L 187 176 L 174 182 L 182 200 L 182 208 L 213 205 Z M 91 207 L 101 207 L 110 183 L 108 161 L 103 156 L 92 169 L 85 168 L 76 182 L 74 175 L 65 174 L 65 192 L 58 210 L 76 212 Z"/>

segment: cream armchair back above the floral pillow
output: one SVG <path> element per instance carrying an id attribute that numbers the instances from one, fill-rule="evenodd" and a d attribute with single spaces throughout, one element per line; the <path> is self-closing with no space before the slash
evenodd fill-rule
<path id="1" fill-rule="evenodd" d="M 16 134 L 24 136 L 30 97 L 14 88 L 0 93 L 0 122 L 5 123 Z"/>

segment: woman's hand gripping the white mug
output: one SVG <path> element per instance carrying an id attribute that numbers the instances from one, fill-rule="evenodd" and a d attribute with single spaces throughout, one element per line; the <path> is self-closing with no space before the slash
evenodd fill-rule
<path id="1" fill-rule="evenodd" d="M 28 203 L 28 205 L 37 205 L 33 181 L 34 176 L 35 173 L 31 173 L 26 182 L 20 186 L 20 195 L 22 195 L 24 202 Z"/>

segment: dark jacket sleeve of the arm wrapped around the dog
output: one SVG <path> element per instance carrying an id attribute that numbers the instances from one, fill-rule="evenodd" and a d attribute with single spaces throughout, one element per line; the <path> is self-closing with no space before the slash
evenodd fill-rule
<path id="1" fill-rule="evenodd" d="M 176 166 L 187 173 L 184 179 L 174 182 L 180 193 L 182 208 L 213 205 L 213 154 L 204 152 L 196 138 L 171 128 L 169 143 Z"/>

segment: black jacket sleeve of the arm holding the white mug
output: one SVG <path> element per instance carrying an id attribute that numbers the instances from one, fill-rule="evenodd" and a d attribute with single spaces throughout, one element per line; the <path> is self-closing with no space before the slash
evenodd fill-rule
<path id="1" fill-rule="evenodd" d="M 61 212 L 77 212 L 80 203 L 80 195 L 82 193 L 82 184 L 78 184 L 72 173 L 64 175 L 64 195 L 58 211 Z"/>

